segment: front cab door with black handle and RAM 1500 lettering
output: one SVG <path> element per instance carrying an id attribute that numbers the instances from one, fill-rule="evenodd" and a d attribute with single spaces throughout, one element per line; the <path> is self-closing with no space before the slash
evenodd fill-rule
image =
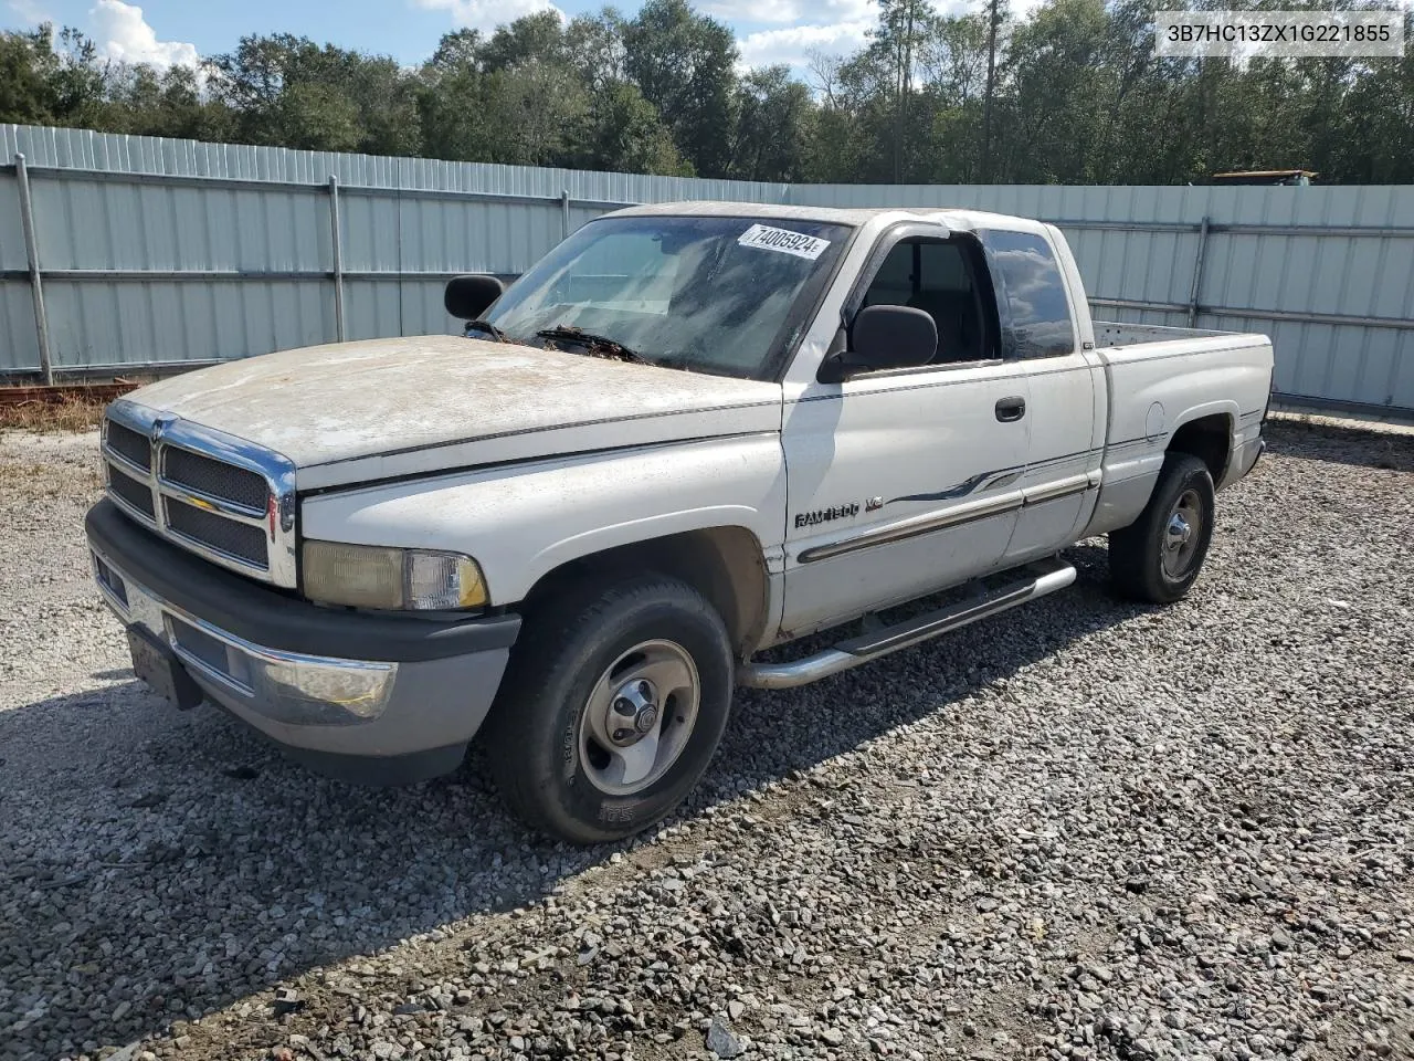
<path id="1" fill-rule="evenodd" d="M 981 245 L 940 225 L 887 231 L 844 304 L 928 311 L 933 361 L 788 385 L 785 613 L 802 634 L 998 566 L 1028 460 L 1028 366 L 1000 356 Z M 841 328 L 837 342 L 847 342 Z"/>

